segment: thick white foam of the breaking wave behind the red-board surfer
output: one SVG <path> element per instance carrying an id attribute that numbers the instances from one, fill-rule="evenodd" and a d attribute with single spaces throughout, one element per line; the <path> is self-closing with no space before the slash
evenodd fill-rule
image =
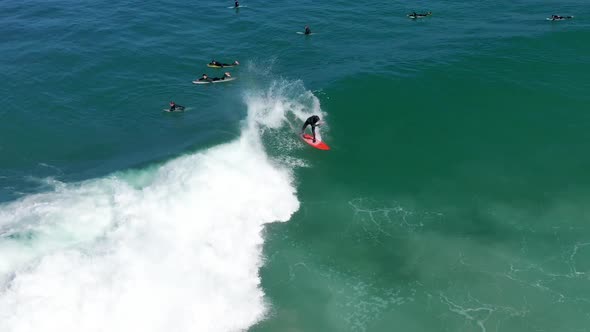
<path id="1" fill-rule="evenodd" d="M 259 139 L 303 115 L 284 88 L 247 98 L 233 142 L 0 206 L 0 331 L 242 331 L 262 319 L 261 229 L 299 208 L 291 170 Z"/>

